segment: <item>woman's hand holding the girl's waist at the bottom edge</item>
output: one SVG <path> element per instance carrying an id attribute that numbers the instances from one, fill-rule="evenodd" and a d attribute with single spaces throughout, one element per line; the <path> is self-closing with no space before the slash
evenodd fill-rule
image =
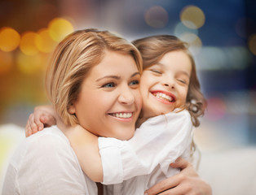
<path id="1" fill-rule="evenodd" d="M 192 164 L 188 163 L 188 161 L 183 158 L 178 158 L 176 162 L 171 163 L 170 166 L 180 168 L 180 173 L 155 184 L 151 189 L 148 189 L 145 194 L 212 195 L 210 185 L 204 180 L 201 180 L 194 167 L 192 167 Z"/>

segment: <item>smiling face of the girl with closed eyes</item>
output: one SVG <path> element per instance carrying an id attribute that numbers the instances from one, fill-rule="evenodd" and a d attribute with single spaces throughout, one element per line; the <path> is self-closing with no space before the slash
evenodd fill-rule
<path id="1" fill-rule="evenodd" d="M 171 51 L 144 69 L 140 80 L 143 118 L 185 106 L 191 71 L 190 58 L 182 50 Z"/>

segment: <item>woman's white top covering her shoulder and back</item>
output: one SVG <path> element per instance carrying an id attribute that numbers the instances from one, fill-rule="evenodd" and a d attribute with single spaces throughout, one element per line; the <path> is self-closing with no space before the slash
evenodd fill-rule
<path id="1" fill-rule="evenodd" d="M 67 137 L 53 126 L 26 138 L 11 158 L 2 195 L 97 194 Z"/>

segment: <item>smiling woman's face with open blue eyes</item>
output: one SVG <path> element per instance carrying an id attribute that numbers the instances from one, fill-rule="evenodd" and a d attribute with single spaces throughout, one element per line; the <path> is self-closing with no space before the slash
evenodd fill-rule
<path id="1" fill-rule="evenodd" d="M 107 51 L 86 75 L 77 101 L 68 111 L 97 136 L 130 139 L 142 105 L 139 80 L 134 58 Z"/>

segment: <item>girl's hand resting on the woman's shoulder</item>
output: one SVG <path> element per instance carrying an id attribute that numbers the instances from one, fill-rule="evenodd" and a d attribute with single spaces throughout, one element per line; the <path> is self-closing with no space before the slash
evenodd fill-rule
<path id="1" fill-rule="evenodd" d="M 41 131 L 43 128 L 56 124 L 55 111 L 52 106 L 37 106 L 33 114 L 29 115 L 26 124 L 25 135 L 31 136 L 33 133 Z"/>

